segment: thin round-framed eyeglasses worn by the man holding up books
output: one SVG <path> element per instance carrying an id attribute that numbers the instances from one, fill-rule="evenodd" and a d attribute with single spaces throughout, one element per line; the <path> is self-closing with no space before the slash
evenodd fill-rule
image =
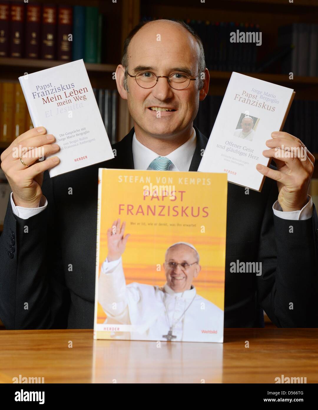
<path id="1" fill-rule="evenodd" d="M 167 78 L 169 86 L 175 90 L 184 90 L 190 84 L 190 81 L 197 80 L 200 75 L 198 74 L 196 78 L 190 78 L 189 75 L 185 73 L 173 73 L 170 74 L 169 77 L 167 75 L 156 75 L 151 71 L 140 71 L 136 75 L 130 75 L 126 70 L 126 73 L 129 77 L 134 77 L 136 83 L 142 88 L 152 88 L 157 84 L 160 77 L 165 77 Z"/>

